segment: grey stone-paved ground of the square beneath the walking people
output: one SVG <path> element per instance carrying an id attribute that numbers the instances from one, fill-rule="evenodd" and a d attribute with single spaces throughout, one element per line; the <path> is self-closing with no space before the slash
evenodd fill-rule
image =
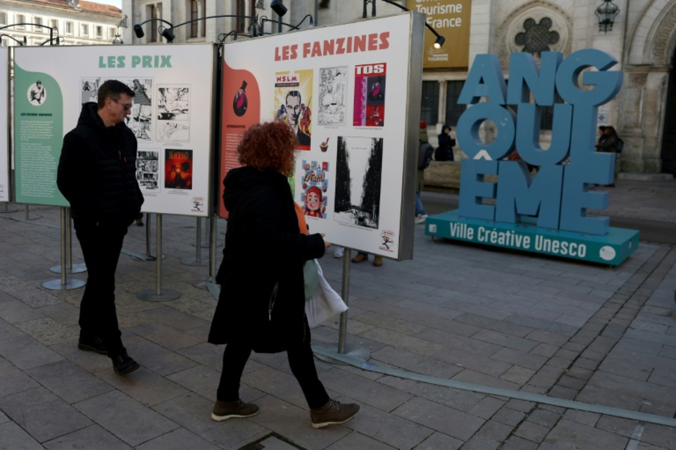
<path id="1" fill-rule="evenodd" d="M 676 181 L 617 181 L 606 212 L 676 223 L 675 194 Z M 155 263 L 120 258 L 118 316 L 142 367 L 117 376 L 76 348 L 82 290 L 41 286 L 59 278 L 59 209 L 30 206 L 26 220 L 14 207 L 0 214 L 0 449 L 676 449 L 669 426 L 324 361 L 331 397 L 362 411 L 315 430 L 284 354 L 247 364 L 241 397 L 260 414 L 213 422 L 216 300 L 195 287 L 208 267 L 181 263 L 195 258 L 196 220 L 164 217 L 162 283 L 180 298 L 139 300 L 155 289 Z M 124 247 L 145 252 L 145 227 L 132 225 Z M 73 254 L 81 263 L 76 240 Z M 339 290 L 332 255 L 321 264 Z M 675 291 L 674 246 L 642 242 L 611 268 L 431 240 L 416 226 L 412 261 L 352 265 L 347 342 L 381 367 L 673 418 Z M 331 319 L 313 340 L 335 346 L 338 329 Z"/>

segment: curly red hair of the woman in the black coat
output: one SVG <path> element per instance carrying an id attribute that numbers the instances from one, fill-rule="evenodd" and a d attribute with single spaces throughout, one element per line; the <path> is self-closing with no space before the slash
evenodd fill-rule
<path id="1" fill-rule="evenodd" d="M 265 122 L 251 126 L 237 147 L 239 163 L 256 168 L 272 168 L 293 174 L 293 151 L 298 137 L 285 122 Z"/>

